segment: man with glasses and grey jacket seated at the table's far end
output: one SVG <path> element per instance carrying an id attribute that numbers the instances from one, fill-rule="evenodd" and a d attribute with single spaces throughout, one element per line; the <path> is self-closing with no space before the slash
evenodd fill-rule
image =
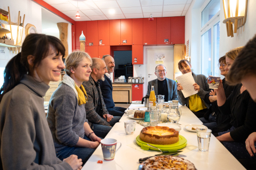
<path id="1" fill-rule="evenodd" d="M 166 78 L 166 67 L 161 64 L 156 66 L 155 74 L 157 79 L 149 81 L 147 95 L 150 95 L 151 86 L 154 86 L 155 95 L 164 95 L 164 102 L 177 100 L 176 81 Z"/>

